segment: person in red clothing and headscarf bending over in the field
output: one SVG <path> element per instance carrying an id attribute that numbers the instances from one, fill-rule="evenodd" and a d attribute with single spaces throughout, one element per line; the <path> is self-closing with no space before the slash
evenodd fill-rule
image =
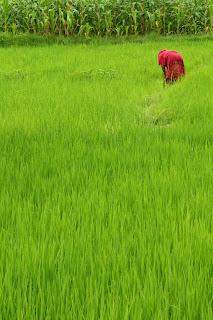
<path id="1" fill-rule="evenodd" d="M 162 67 L 166 83 L 173 83 L 185 75 L 183 57 L 177 51 L 161 50 L 158 64 Z"/>

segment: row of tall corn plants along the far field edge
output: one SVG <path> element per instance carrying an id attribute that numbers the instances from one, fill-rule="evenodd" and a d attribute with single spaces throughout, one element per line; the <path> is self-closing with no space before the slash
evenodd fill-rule
<path id="1" fill-rule="evenodd" d="M 111 36 L 209 32 L 213 0 L 0 0 L 0 31 Z"/>

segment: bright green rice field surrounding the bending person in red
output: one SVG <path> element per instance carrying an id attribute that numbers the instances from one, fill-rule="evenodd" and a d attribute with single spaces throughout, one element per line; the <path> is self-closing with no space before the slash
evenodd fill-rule
<path id="1" fill-rule="evenodd" d="M 0 319 L 212 319 L 212 52 L 0 49 Z"/>

